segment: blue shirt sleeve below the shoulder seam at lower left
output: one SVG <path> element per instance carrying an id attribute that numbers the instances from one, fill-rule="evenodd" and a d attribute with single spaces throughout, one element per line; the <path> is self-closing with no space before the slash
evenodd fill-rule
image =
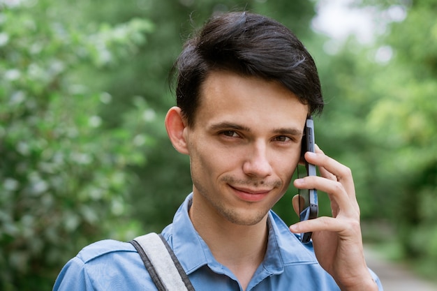
<path id="1" fill-rule="evenodd" d="M 56 279 L 53 291 L 91 291 L 94 290 L 84 262 L 73 258 L 62 268 Z"/>

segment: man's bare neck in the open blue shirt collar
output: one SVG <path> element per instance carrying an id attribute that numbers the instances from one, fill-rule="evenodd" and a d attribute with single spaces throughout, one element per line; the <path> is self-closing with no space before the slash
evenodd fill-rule
<path id="1" fill-rule="evenodd" d="M 237 225 L 212 209 L 198 207 L 196 197 L 189 215 L 214 258 L 237 276 L 245 290 L 265 256 L 267 215 L 255 225 Z"/>

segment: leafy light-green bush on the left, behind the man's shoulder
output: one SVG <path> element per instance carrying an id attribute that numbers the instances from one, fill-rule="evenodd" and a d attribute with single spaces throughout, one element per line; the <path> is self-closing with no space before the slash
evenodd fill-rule
<path id="1" fill-rule="evenodd" d="M 11 2 L 12 3 L 12 2 Z M 0 289 L 50 290 L 66 260 L 126 217 L 128 165 L 154 140 L 144 102 L 103 128 L 112 96 L 84 86 L 79 66 L 104 69 L 138 50 L 151 24 L 87 30 L 45 13 L 50 1 L 0 6 Z"/>

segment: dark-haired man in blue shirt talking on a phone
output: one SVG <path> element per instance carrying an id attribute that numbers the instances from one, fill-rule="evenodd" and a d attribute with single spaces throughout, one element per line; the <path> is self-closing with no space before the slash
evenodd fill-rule
<path id="1" fill-rule="evenodd" d="M 213 17 L 177 59 L 170 140 L 190 157 L 193 193 L 162 234 L 195 290 L 382 290 L 366 267 L 360 209 L 344 165 L 317 149 L 332 217 L 287 227 L 271 209 L 301 160 L 306 118 L 323 108 L 310 54 L 286 27 L 251 13 Z M 297 201 L 293 206 L 297 209 Z M 302 244 L 299 234 L 313 232 Z M 100 241 L 59 274 L 54 290 L 156 290 L 135 248 Z"/>

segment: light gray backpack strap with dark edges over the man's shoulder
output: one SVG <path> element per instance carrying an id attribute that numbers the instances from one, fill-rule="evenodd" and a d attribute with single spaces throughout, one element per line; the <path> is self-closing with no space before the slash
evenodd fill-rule
<path id="1" fill-rule="evenodd" d="M 195 291 L 175 253 L 161 234 L 151 232 L 129 242 L 140 254 L 159 291 Z"/>

